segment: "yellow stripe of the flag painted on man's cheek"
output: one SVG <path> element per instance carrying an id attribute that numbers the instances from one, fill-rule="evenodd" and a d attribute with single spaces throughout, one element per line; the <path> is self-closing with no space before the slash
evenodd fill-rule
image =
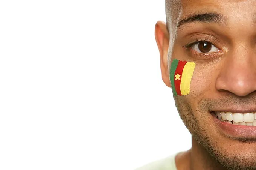
<path id="1" fill-rule="evenodd" d="M 186 65 L 184 66 L 180 82 L 181 95 L 187 95 L 190 92 L 190 82 L 194 69 L 194 62 L 187 62 Z"/>

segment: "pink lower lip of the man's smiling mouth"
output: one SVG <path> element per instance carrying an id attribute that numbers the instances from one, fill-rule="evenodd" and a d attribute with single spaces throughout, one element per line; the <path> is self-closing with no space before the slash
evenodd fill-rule
<path id="1" fill-rule="evenodd" d="M 231 135 L 233 137 L 256 137 L 256 126 L 233 125 L 227 122 L 222 122 L 216 117 L 213 118 L 214 123 L 225 134 Z"/>

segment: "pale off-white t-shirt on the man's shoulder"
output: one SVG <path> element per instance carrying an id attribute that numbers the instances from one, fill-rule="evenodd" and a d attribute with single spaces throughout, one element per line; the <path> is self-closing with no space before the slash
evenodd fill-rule
<path id="1" fill-rule="evenodd" d="M 177 170 L 175 165 L 175 155 L 168 156 L 167 158 L 160 159 L 158 161 L 151 162 L 136 170 Z"/>

